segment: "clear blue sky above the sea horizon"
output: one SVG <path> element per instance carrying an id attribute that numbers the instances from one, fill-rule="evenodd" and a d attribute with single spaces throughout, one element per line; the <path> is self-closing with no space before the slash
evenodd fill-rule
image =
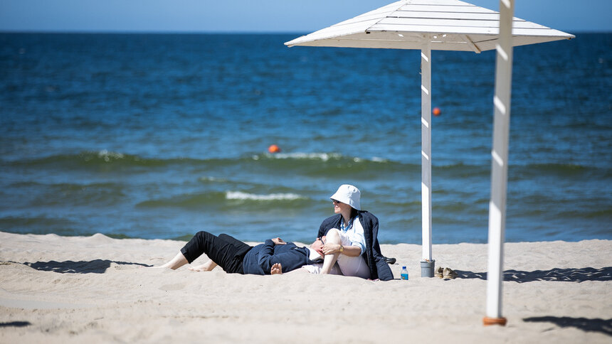
<path id="1" fill-rule="evenodd" d="M 308 33 L 392 0 L 0 0 L 0 31 Z M 498 0 L 468 0 L 497 11 Z M 515 0 L 515 16 L 612 32 L 612 0 Z"/>

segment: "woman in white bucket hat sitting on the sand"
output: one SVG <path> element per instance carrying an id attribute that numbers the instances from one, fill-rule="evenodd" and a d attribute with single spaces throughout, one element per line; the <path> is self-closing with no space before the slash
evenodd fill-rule
<path id="1" fill-rule="evenodd" d="M 330 198 L 337 215 L 323 220 L 317 234 L 317 239 L 325 237 L 321 273 L 329 274 L 337 262 L 345 276 L 382 281 L 393 279 L 377 238 L 379 220 L 361 210 L 359 189 L 344 184 Z"/>

